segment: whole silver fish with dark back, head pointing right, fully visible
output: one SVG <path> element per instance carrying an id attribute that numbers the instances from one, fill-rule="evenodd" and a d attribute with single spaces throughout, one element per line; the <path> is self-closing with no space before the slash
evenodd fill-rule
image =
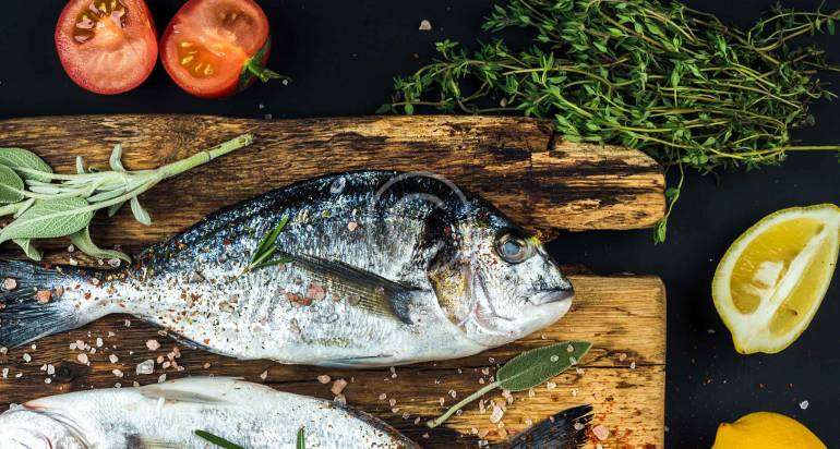
<path id="1" fill-rule="evenodd" d="M 268 266 L 249 269 L 266 248 Z M 392 171 L 269 192 L 118 270 L 2 262 L 3 278 L 16 284 L 0 294 L 3 345 L 128 313 L 215 353 L 345 367 L 476 354 L 554 323 L 573 298 L 539 241 L 488 202 Z"/>

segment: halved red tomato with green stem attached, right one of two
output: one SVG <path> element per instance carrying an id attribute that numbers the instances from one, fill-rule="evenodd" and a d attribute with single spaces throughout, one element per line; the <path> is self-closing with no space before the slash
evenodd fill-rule
<path id="1" fill-rule="evenodd" d="M 164 32 L 160 60 L 188 93 L 218 98 L 255 78 L 284 78 L 265 68 L 271 46 L 268 17 L 253 0 L 190 0 Z"/>

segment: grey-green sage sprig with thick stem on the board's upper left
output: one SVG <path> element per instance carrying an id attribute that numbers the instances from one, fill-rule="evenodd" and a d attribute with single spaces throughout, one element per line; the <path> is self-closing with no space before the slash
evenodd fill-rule
<path id="1" fill-rule="evenodd" d="M 85 254 L 130 262 L 121 252 L 94 244 L 89 223 L 97 210 L 107 209 L 108 216 L 113 216 L 128 202 L 134 218 L 149 225 L 152 217 L 140 204 L 140 194 L 252 142 L 253 135 L 244 134 L 155 170 L 137 171 L 122 166 L 122 147 L 117 145 L 109 159 L 111 170 L 86 168 L 84 159 L 77 157 L 75 174 L 53 173 L 47 162 L 26 149 L 0 148 L 0 216 L 14 218 L 0 231 L 0 243 L 11 240 L 38 260 L 41 254 L 34 240 L 69 235 Z"/>

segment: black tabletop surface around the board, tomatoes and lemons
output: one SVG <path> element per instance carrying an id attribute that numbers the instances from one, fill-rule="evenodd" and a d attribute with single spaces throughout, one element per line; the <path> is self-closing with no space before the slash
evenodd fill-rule
<path id="1" fill-rule="evenodd" d="M 149 0 L 158 31 L 181 4 Z M 727 22 L 745 25 L 766 0 L 689 1 Z M 813 1 L 784 1 L 814 8 Z M 291 75 L 289 86 L 253 86 L 225 100 L 179 90 L 159 66 L 140 88 L 101 97 L 76 87 L 63 73 L 52 33 L 63 1 L 4 0 L 0 13 L 0 118 L 117 112 L 201 112 L 274 118 L 359 116 L 384 102 L 392 77 L 428 61 L 433 43 L 449 37 L 473 43 L 482 34 L 489 3 L 480 0 L 264 0 L 275 49 L 269 65 Z M 840 8 L 837 2 L 829 7 Z M 421 20 L 431 32 L 418 31 Z M 840 36 L 818 38 L 840 62 Z M 838 76 L 823 76 L 840 84 Z M 838 88 L 840 90 L 840 87 Z M 263 108 L 261 109 L 261 105 Z M 840 143 L 840 102 L 815 105 L 817 125 L 796 137 Z M 0 143 L 2 136 L 0 136 Z M 72 149 L 70 149 L 72 150 Z M 717 260 L 728 245 L 763 216 L 780 208 L 840 203 L 840 165 L 835 155 L 792 156 L 782 167 L 713 178 L 691 175 L 673 215 L 669 240 L 651 243 L 650 231 L 561 235 L 550 244 L 563 263 L 600 274 L 631 271 L 664 279 L 668 299 L 667 442 L 708 447 L 718 423 L 754 411 L 800 420 L 831 446 L 840 441 L 840 282 L 804 335 L 776 355 L 735 353 L 710 299 Z M 801 401 L 809 406 L 801 410 Z"/>

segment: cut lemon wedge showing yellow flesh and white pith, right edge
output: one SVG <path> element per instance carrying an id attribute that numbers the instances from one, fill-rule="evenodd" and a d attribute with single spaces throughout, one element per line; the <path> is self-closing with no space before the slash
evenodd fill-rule
<path id="1" fill-rule="evenodd" d="M 744 354 L 776 353 L 805 330 L 837 265 L 840 208 L 794 207 L 763 218 L 729 247 L 715 307 Z"/>

